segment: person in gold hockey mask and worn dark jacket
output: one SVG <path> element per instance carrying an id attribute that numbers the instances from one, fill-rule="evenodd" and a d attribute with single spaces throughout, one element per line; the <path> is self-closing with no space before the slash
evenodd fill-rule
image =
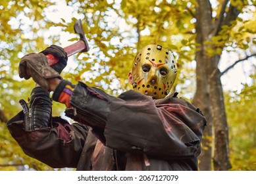
<path id="1" fill-rule="evenodd" d="M 45 55 L 60 58 L 49 66 Z M 133 90 L 118 97 L 59 74 L 66 53 L 52 45 L 20 60 L 21 78 L 38 87 L 30 102 L 7 127 L 22 150 L 52 168 L 76 170 L 198 170 L 197 156 L 206 120 L 199 108 L 169 94 L 176 60 L 169 49 L 147 45 L 134 59 L 129 80 Z M 66 104 L 66 116 L 51 116 L 51 98 Z"/>

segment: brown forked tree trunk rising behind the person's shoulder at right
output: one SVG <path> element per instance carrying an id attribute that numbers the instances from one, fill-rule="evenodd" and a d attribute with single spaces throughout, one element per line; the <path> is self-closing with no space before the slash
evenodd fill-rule
<path id="1" fill-rule="evenodd" d="M 197 0 L 197 2 L 199 6 L 196 9 L 196 41 L 199 43 L 200 47 L 197 49 L 196 53 L 197 91 L 193 103 L 197 104 L 203 113 L 205 113 L 209 126 L 205 130 L 203 137 L 203 153 L 201 154 L 199 169 L 209 170 L 211 168 L 211 127 L 213 126 L 214 170 L 228 170 L 231 168 L 231 165 L 228 147 L 228 125 L 224 108 L 220 71 L 218 70 L 220 56 L 215 55 L 211 57 L 207 55 L 207 49 L 209 49 L 211 45 L 205 45 L 205 41 L 211 41 L 213 36 L 218 34 L 220 25 L 222 25 L 221 20 L 223 16 L 220 14 L 220 22 L 214 24 L 216 22 L 213 22 L 210 1 Z M 222 10 L 225 9 L 227 3 L 228 1 L 224 1 Z M 212 122 L 213 124 L 211 124 Z"/>

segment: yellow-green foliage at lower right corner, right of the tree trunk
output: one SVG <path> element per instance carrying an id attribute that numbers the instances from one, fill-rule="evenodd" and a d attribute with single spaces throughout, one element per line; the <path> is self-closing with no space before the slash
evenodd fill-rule
<path id="1" fill-rule="evenodd" d="M 256 75 L 251 78 L 253 83 L 244 84 L 241 92 L 226 94 L 232 170 L 256 170 Z"/>

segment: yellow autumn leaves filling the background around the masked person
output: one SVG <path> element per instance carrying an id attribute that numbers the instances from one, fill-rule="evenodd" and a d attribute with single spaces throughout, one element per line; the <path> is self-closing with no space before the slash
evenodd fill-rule
<path id="1" fill-rule="evenodd" d="M 240 1 L 232 1 L 238 3 Z M 250 1 L 246 1 L 250 2 Z M 217 1 L 221 5 L 222 1 Z M 51 44 L 62 45 L 60 32 L 71 34 L 70 42 L 76 41 L 78 35 L 74 35 L 72 25 L 78 19 L 82 24 L 86 37 L 90 42 L 90 51 L 82 53 L 70 60 L 74 60 L 74 66 L 63 72 L 63 78 L 76 83 L 79 80 L 86 81 L 107 91 L 111 95 L 119 95 L 123 91 L 131 89 L 127 76 L 132 66 L 136 52 L 148 43 L 163 43 L 174 52 L 178 61 L 178 80 L 175 89 L 183 94 L 189 94 L 192 98 L 195 91 L 195 0 L 186 1 L 155 1 L 155 0 L 122 0 L 122 1 L 97 1 L 97 0 L 66 0 L 65 4 L 72 7 L 72 18 L 63 18 L 57 21 L 51 20 L 47 12 L 54 9 L 55 1 L 3 1 L 0 5 L 0 110 L 7 119 L 13 117 L 21 109 L 18 101 L 26 99 L 34 86 L 32 80 L 20 80 L 18 77 L 18 62 L 27 53 L 43 50 Z M 249 3 L 250 4 L 250 3 Z M 239 6 L 241 6 L 238 3 Z M 253 12 L 245 9 L 248 13 Z M 213 6 L 213 12 L 218 14 L 217 6 Z M 222 27 L 220 35 L 214 37 L 209 43 L 213 49 L 209 54 L 219 53 L 219 47 L 228 51 L 236 48 L 246 49 L 251 53 L 251 45 L 255 44 L 255 12 L 253 18 L 239 18 L 228 27 Z M 55 33 L 57 32 L 57 33 Z M 236 94 L 240 96 L 240 93 Z M 240 101 L 247 104 L 248 110 L 253 106 L 247 97 L 242 96 L 240 101 L 234 97 L 227 97 L 226 103 L 228 122 L 232 128 L 239 122 L 234 114 Z M 53 104 L 53 114 L 59 116 L 63 112 L 64 105 Z M 242 110 L 240 111 L 242 112 Z M 246 116 L 247 117 L 247 116 Z M 237 118 L 237 119 L 236 119 Z M 253 124 L 253 117 L 247 120 L 248 126 Z M 254 121 L 255 122 L 255 121 Z M 233 127 L 234 126 L 234 127 Z M 231 128 L 231 129 L 232 129 Z M 246 135 L 249 135 L 247 129 Z M 252 133 L 252 132 L 250 132 Z M 234 139 L 239 134 L 232 131 L 232 161 L 244 159 L 245 155 L 238 157 L 237 152 L 244 149 L 245 153 L 253 161 L 253 149 L 249 149 L 252 143 L 243 139 Z M 52 170 L 37 160 L 26 156 L 16 141 L 11 137 L 4 123 L 0 124 L 0 170 L 16 170 L 17 164 L 25 165 L 28 169 Z M 242 138 L 240 136 L 239 138 Z M 246 144 L 245 144 L 246 143 Z M 237 169 L 247 170 L 249 164 L 238 165 Z M 1 167 L 1 165 L 10 165 Z M 14 165 L 14 166 L 11 166 Z M 234 164 L 235 165 L 235 164 Z M 253 166 L 253 165 L 251 165 Z M 254 169 L 255 170 L 255 169 Z"/>

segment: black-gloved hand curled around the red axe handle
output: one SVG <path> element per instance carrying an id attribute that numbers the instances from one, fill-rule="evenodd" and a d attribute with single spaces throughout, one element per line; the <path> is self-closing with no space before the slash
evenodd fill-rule
<path id="1" fill-rule="evenodd" d="M 59 47 L 57 45 L 51 45 L 50 47 L 47 47 L 44 51 L 41 51 L 44 55 L 53 55 L 56 58 L 59 58 L 59 62 L 51 66 L 55 71 L 61 72 L 66 67 L 66 62 L 68 61 L 68 56 L 64 49 L 62 47 Z"/>

